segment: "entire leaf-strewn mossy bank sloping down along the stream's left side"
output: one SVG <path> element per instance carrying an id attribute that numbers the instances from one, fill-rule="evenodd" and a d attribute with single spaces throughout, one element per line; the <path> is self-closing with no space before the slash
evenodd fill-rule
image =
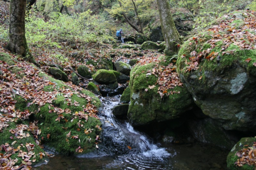
<path id="1" fill-rule="evenodd" d="M 0 53 L 0 65 L 0 68 L 10 68 L 4 69 L 3 73 L 11 77 L 1 77 L 4 79 L 1 92 L 8 92 L 4 87 L 8 83 L 12 84 L 10 92 L 15 94 L 6 96 L 2 93 L 8 100 L 1 103 L 1 107 L 6 103 L 8 107 L 0 110 L 0 145 L 11 149 L 1 149 L 2 158 L 7 156 L 7 159 L 1 159 L 2 166 L 11 160 L 13 164 L 7 165 L 7 169 L 14 166 L 15 169 L 18 166 L 30 169 L 28 165 L 45 163 L 48 156 L 41 148 L 43 146 L 75 155 L 97 149 L 94 142 L 101 133 L 101 122 L 97 119 L 96 110 L 101 103 L 93 93 L 73 90 L 35 65 L 15 61 L 4 53 Z M 29 93 L 21 90 L 20 85 Z M 86 132 L 88 134 L 84 133 L 85 129 L 90 129 Z"/>

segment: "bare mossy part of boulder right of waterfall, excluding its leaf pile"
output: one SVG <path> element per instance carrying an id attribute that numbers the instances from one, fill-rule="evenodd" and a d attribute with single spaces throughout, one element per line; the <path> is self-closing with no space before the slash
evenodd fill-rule
<path id="1" fill-rule="evenodd" d="M 176 86 L 170 91 L 176 91 L 161 99 L 156 85 L 157 77 L 148 75 L 148 71 L 156 67 L 156 63 L 136 65 L 131 71 L 130 90 L 131 104 L 128 117 L 132 124 L 145 125 L 155 121 L 166 121 L 179 117 L 182 113 L 192 108 L 192 98 L 186 88 Z M 148 86 L 155 85 L 150 89 Z M 145 90 L 147 89 L 147 90 Z"/>

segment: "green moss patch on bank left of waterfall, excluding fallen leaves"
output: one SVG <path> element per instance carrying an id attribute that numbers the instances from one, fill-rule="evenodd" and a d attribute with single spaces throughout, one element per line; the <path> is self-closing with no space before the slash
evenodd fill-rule
<path id="1" fill-rule="evenodd" d="M 41 111 L 36 115 L 37 119 L 40 120 L 39 128 L 42 129 L 41 137 L 44 137 L 42 141 L 60 153 L 77 154 L 75 150 L 79 146 L 84 150 L 83 153 L 90 152 L 95 148 L 94 142 L 96 136 L 100 134 L 100 130 L 96 128 L 96 125 L 101 125 L 100 121 L 89 116 L 87 121 L 85 119 L 78 119 L 72 114 L 82 107 L 65 106 L 61 99 L 63 98 L 60 97 L 57 99 L 56 103 L 61 107 L 72 109 L 72 112 L 70 114 L 62 113 L 64 119 L 60 119 L 60 122 L 56 121 L 58 117 L 56 113 L 49 113 L 49 104 L 41 107 Z M 77 98 L 75 97 L 73 100 L 77 100 Z M 65 118 L 68 122 L 65 121 Z M 79 127 L 79 124 L 82 126 L 80 125 Z M 80 129 L 79 131 L 77 130 L 78 128 Z M 87 135 L 84 133 L 85 129 L 92 129 L 92 132 Z M 67 138 L 69 132 L 70 137 Z M 47 138 L 47 134 L 50 134 L 49 139 Z M 72 136 L 78 136 L 78 138 L 71 138 Z M 89 141 L 90 138 L 91 141 Z"/>

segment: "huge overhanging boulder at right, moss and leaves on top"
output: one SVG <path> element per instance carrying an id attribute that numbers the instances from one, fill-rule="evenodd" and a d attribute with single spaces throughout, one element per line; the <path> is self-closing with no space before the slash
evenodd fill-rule
<path id="1" fill-rule="evenodd" d="M 226 130 L 256 130 L 256 13 L 236 11 L 186 41 L 177 71 L 205 115 Z"/>

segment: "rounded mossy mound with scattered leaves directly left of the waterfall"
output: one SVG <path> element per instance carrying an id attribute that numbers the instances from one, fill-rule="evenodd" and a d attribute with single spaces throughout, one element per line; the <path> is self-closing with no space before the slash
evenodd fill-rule
<path id="1" fill-rule="evenodd" d="M 94 103 L 95 105 L 100 106 L 99 99 L 93 93 L 88 91 L 83 91 L 82 93 L 91 97 L 96 102 Z M 76 149 L 79 146 L 85 149 L 84 153 L 90 152 L 93 148 L 95 149 L 95 145 L 92 141 L 89 141 L 92 139 L 94 141 L 96 136 L 100 134 L 100 130 L 95 127 L 100 126 L 101 122 L 94 117 L 86 116 L 84 107 L 86 107 L 88 101 L 85 98 L 73 94 L 69 98 L 69 102 L 76 104 L 68 105 L 66 98 L 60 95 L 56 100 L 53 100 L 55 108 L 50 104 L 40 108 L 35 117 L 39 121 L 39 128 L 42 129 L 41 136 L 44 137 L 45 145 L 49 148 L 54 148 L 59 153 L 77 154 Z M 58 108 L 56 110 L 57 114 L 53 112 L 56 107 Z M 81 116 L 84 119 L 79 119 Z M 92 130 L 85 134 L 84 131 L 87 129 Z"/>

